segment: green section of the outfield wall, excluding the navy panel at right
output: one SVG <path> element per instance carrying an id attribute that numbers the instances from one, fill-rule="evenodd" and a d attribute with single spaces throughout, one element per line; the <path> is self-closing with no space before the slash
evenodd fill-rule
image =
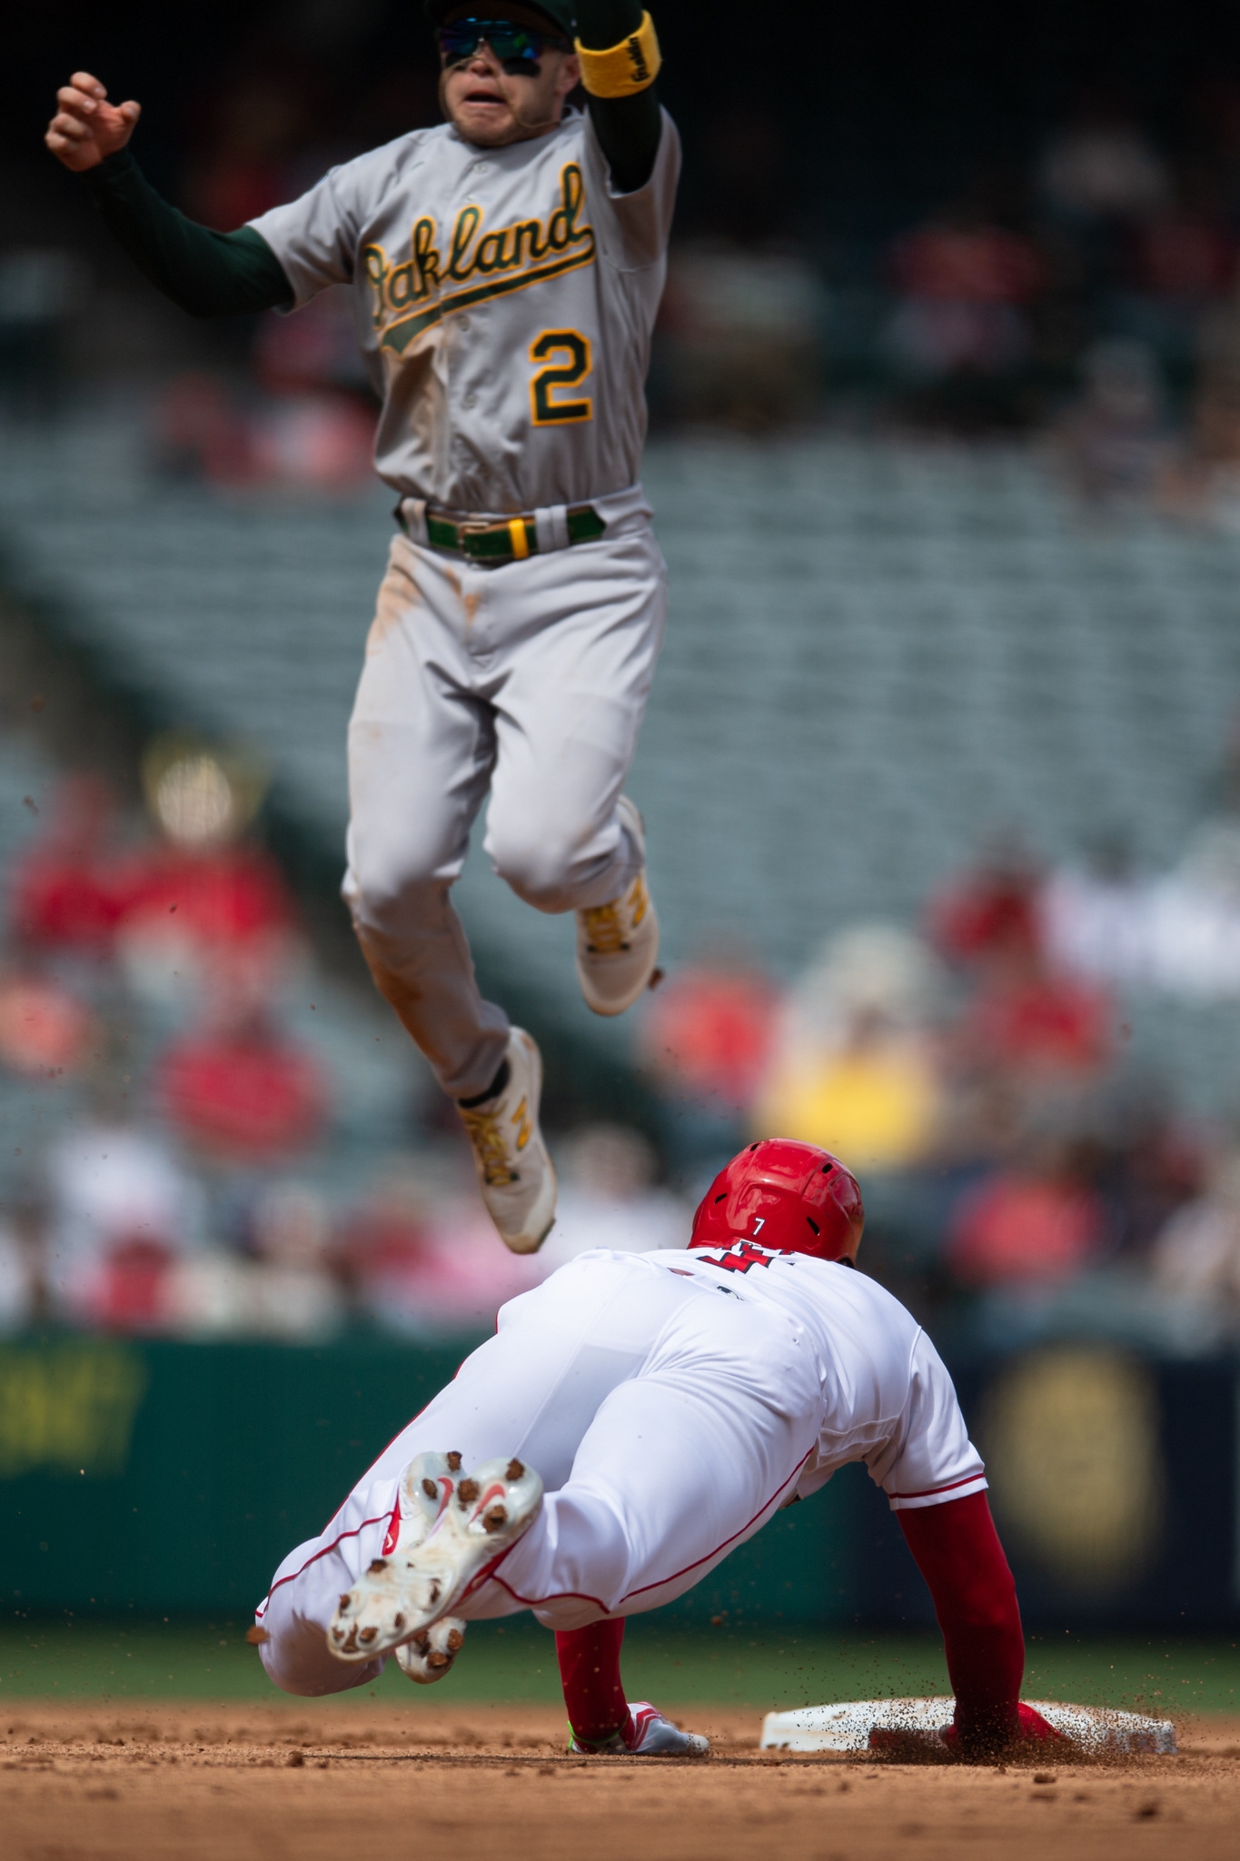
<path id="1" fill-rule="evenodd" d="M 0 1344 L 9 1610 L 247 1612 L 468 1344 L 323 1349 L 50 1336 Z M 844 1483 L 792 1507 L 680 1604 L 837 1619 L 855 1573 Z"/>

